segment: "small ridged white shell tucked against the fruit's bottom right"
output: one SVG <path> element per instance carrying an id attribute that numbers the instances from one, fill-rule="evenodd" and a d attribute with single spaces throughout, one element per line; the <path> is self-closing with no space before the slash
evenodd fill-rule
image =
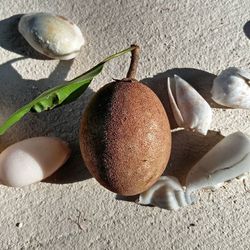
<path id="1" fill-rule="evenodd" d="M 161 176 L 151 188 L 140 194 L 138 203 L 177 210 L 193 203 L 193 198 L 187 195 L 177 178 Z"/>

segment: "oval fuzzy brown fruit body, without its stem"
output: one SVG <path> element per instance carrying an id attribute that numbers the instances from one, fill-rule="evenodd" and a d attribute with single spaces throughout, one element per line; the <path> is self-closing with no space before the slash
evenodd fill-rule
<path id="1" fill-rule="evenodd" d="M 171 131 L 155 93 L 136 80 L 105 85 L 87 106 L 80 148 L 90 173 L 104 187 L 136 195 L 156 182 L 171 151 Z"/>

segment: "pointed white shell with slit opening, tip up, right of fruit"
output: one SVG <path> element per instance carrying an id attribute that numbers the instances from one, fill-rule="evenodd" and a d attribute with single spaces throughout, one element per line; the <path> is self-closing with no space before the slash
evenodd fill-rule
<path id="1" fill-rule="evenodd" d="M 173 80 L 171 84 L 168 78 L 168 96 L 177 124 L 187 130 L 206 135 L 212 122 L 212 109 L 185 80 L 177 75 L 174 75 Z"/>

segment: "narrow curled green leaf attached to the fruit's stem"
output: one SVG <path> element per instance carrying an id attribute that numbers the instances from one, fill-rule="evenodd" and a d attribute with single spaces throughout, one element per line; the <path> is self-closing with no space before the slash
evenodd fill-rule
<path id="1" fill-rule="evenodd" d="M 87 89 L 93 78 L 102 72 L 106 62 L 130 52 L 134 48 L 134 46 L 131 46 L 130 48 L 113 54 L 105 58 L 92 69 L 67 82 L 66 84 L 46 90 L 33 101 L 13 113 L 2 124 L 2 126 L 0 126 L 0 135 L 3 135 L 11 126 L 13 126 L 29 112 L 40 113 L 75 101 Z"/>

